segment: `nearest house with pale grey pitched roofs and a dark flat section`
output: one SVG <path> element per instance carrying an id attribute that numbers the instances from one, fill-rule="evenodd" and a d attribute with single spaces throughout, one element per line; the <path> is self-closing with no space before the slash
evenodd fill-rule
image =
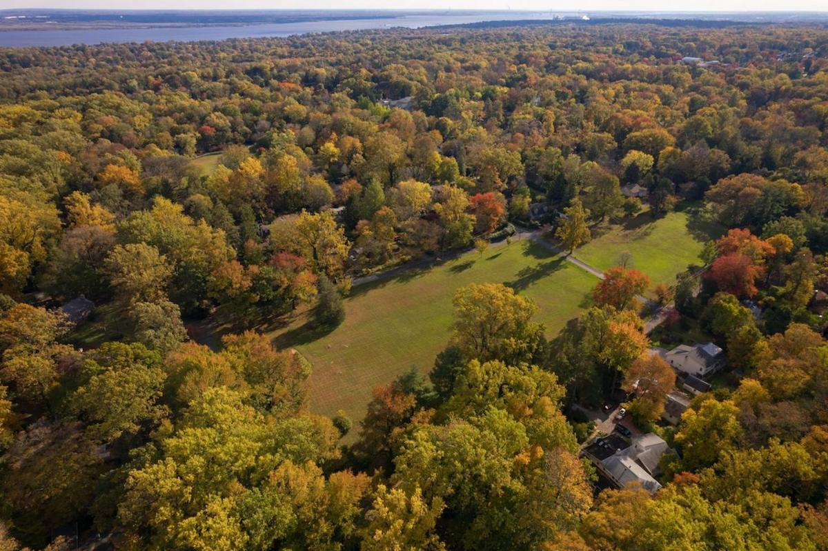
<path id="1" fill-rule="evenodd" d="M 591 443 L 582 454 L 614 486 L 638 484 L 655 493 L 662 487 L 655 479 L 659 474 L 658 463 L 668 452 L 667 443 L 650 433 L 633 438 L 629 444 L 618 434 L 610 434 Z"/>

